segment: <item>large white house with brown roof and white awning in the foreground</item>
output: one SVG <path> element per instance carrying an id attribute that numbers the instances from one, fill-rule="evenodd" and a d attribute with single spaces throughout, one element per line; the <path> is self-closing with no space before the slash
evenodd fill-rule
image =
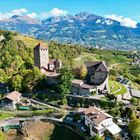
<path id="1" fill-rule="evenodd" d="M 90 129 L 90 135 L 104 135 L 105 131 L 117 136 L 121 129 L 113 122 L 113 117 L 97 107 L 78 109 L 78 113 L 84 115 L 85 125 Z"/>

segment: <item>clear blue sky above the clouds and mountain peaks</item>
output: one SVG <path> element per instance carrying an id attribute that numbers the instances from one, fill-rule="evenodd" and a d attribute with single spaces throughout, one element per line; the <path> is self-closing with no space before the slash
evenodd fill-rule
<path id="1" fill-rule="evenodd" d="M 68 14 L 88 11 L 97 15 L 115 14 L 140 22 L 140 0 L 1 0 L 0 13 L 24 8 L 30 13 L 41 14 L 53 8 Z"/>

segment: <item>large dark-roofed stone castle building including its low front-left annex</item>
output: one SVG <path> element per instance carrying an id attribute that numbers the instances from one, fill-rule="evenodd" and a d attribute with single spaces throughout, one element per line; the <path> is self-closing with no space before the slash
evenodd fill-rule
<path id="1" fill-rule="evenodd" d="M 72 83 L 72 93 L 84 95 L 91 92 L 106 93 L 110 91 L 108 84 L 109 71 L 103 61 L 89 61 L 87 66 L 86 80 L 75 79 Z"/>

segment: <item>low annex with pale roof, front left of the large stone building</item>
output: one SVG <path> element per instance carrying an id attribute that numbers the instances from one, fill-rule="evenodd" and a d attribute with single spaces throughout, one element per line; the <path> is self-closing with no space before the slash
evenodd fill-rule
<path id="1" fill-rule="evenodd" d="M 96 87 L 88 84 L 84 84 L 82 80 L 74 79 L 72 82 L 72 93 L 82 96 L 90 96 L 92 92 L 96 92 Z"/>

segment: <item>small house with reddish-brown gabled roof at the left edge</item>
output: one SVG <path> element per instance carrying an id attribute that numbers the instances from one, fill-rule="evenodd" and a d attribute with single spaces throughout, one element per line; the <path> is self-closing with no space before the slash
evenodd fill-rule
<path id="1" fill-rule="evenodd" d="M 13 91 L 8 93 L 4 98 L 1 100 L 1 107 L 9 108 L 9 109 L 16 109 L 16 104 L 19 103 L 21 100 L 21 93 L 18 91 Z"/>

